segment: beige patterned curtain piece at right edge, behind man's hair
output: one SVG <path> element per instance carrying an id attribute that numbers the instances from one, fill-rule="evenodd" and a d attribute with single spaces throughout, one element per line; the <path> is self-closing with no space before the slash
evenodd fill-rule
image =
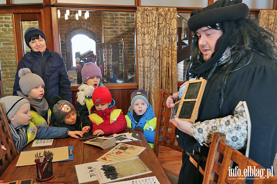
<path id="1" fill-rule="evenodd" d="M 259 23 L 262 28 L 270 29 L 277 44 L 277 10 L 260 10 Z"/>

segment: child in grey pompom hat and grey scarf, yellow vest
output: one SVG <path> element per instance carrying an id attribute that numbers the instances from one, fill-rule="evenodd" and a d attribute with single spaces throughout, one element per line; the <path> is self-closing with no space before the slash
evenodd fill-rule
<path id="1" fill-rule="evenodd" d="M 18 71 L 19 86 L 21 91 L 17 95 L 26 98 L 31 106 L 31 120 L 36 126 L 49 126 L 51 110 L 49 109 L 44 95 L 44 81 L 42 78 L 31 72 L 29 68 L 22 68 Z"/>

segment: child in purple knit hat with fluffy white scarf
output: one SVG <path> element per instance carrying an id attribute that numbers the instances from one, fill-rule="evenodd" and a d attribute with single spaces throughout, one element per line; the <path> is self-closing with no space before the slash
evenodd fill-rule
<path id="1" fill-rule="evenodd" d="M 76 94 L 76 107 L 78 113 L 82 117 L 82 132 L 88 133 L 92 130 L 92 123 L 88 116 L 90 115 L 90 109 L 94 105 L 91 96 L 94 89 L 98 86 L 103 86 L 100 82 L 102 74 L 100 68 L 93 62 L 86 63 L 82 68 L 82 85 L 78 87 Z"/>

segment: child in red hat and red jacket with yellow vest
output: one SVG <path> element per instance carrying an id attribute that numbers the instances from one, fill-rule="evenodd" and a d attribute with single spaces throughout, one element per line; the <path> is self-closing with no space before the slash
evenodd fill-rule
<path id="1" fill-rule="evenodd" d="M 127 128 L 125 116 L 121 109 L 117 109 L 110 91 L 99 86 L 92 94 L 94 105 L 91 107 L 89 119 L 93 124 L 93 135 L 112 135 Z"/>

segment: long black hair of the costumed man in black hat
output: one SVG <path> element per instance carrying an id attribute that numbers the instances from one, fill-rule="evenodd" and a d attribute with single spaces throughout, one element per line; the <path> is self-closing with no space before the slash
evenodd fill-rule
<path id="1" fill-rule="evenodd" d="M 219 28 L 216 25 L 209 27 L 212 29 L 221 30 L 220 25 Z M 222 31 L 224 32 L 224 30 Z M 198 39 L 198 36 L 195 34 L 192 43 L 192 68 L 195 68 L 205 62 L 198 46 Z M 246 62 L 244 65 L 246 66 L 250 62 L 252 54 L 255 52 L 256 54 L 267 58 L 265 59 L 266 61 L 273 62 L 277 65 L 277 47 L 274 43 L 274 36 L 270 32 L 261 28 L 258 21 L 254 18 L 235 21 L 235 29 L 232 36 L 229 38 L 228 43 L 231 51 L 231 56 L 228 59 L 228 62 L 220 65 L 215 63 L 213 67 L 207 69 L 204 74 L 201 74 L 205 79 L 208 80 L 219 69 L 225 71 L 225 76 L 223 77 L 220 91 L 220 110 L 222 109 L 223 93 L 225 91 L 226 81 L 229 74 L 243 67 L 242 66 L 234 70 L 240 59 L 245 56 L 249 58 L 248 62 Z M 189 72 L 187 72 L 187 74 L 189 74 Z"/>

